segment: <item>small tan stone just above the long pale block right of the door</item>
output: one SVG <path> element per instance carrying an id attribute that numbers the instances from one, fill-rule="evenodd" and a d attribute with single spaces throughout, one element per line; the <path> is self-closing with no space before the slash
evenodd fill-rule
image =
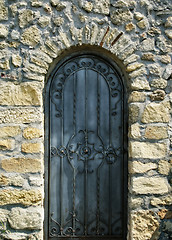
<path id="1" fill-rule="evenodd" d="M 167 128 L 161 126 L 148 126 L 145 131 L 145 138 L 164 139 L 168 137 Z"/>

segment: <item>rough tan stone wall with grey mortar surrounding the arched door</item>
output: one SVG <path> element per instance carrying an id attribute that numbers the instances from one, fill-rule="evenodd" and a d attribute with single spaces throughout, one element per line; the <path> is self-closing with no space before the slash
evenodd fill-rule
<path id="1" fill-rule="evenodd" d="M 128 239 L 170 239 L 170 0 L 0 0 L 0 238 L 43 239 L 44 87 L 75 46 L 114 56 L 127 81 Z"/>

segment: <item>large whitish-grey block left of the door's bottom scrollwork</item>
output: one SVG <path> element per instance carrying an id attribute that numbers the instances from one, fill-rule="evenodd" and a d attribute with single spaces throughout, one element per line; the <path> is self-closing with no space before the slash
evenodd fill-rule
<path id="1" fill-rule="evenodd" d="M 42 216 L 41 209 L 12 208 L 8 221 L 13 229 L 41 229 Z"/>

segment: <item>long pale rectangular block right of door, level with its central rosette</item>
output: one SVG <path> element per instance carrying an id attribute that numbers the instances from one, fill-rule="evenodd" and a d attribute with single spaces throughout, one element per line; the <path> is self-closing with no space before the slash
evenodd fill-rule
<path id="1" fill-rule="evenodd" d="M 167 153 L 165 143 L 148 143 L 148 142 L 130 142 L 129 157 L 132 158 L 163 158 Z"/>

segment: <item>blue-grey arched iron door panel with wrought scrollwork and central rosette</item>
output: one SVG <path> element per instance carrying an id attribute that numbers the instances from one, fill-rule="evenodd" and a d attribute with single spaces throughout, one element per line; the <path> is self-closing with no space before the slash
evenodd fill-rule
<path id="1" fill-rule="evenodd" d="M 123 98 L 100 57 L 71 58 L 52 76 L 49 239 L 124 239 Z"/>

